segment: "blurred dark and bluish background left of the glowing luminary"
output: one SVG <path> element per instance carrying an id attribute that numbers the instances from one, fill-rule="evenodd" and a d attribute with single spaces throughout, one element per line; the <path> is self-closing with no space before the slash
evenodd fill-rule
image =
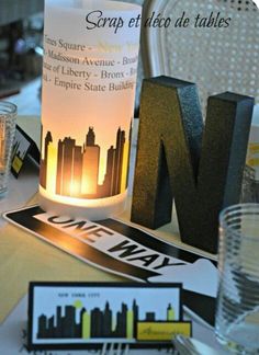
<path id="1" fill-rule="evenodd" d="M 0 99 L 41 114 L 44 0 L 0 0 Z"/>

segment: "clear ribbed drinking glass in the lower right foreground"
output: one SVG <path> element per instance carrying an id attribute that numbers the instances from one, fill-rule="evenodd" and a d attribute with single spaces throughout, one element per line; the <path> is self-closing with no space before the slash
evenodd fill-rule
<path id="1" fill-rule="evenodd" d="M 226 208 L 219 217 L 215 332 L 238 354 L 259 354 L 259 204 Z"/>

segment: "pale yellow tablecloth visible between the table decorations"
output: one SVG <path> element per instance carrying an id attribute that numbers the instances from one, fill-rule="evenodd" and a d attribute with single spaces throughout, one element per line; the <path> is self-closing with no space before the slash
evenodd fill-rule
<path id="1" fill-rule="evenodd" d="M 18 124 L 31 137 L 35 137 L 35 140 L 38 140 L 41 135 L 38 117 L 19 117 Z M 136 134 L 133 136 L 136 136 Z M 133 141 L 132 167 L 134 165 L 135 148 L 136 140 Z M 132 180 L 133 169 L 131 169 L 130 181 Z M 29 205 L 35 204 L 37 186 L 38 168 L 33 163 L 27 163 L 18 180 L 13 176 L 10 178 L 9 193 L 0 201 L 0 213 L 18 209 L 27 204 L 27 202 Z M 121 217 L 127 220 L 128 215 L 127 209 Z M 181 243 L 176 218 L 173 218 L 172 224 L 151 232 L 181 248 L 200 252 Z M 205 252 L 203 255 L 213 256 Z M 215 259 L 215 255 L 213 257 Z M 126 282 L 127 279 L 86 265 L 71 255 L 53 248 L 0 218 L 0 323 L 27 293 L 27 285 L 31 280 Z M 203 339 L 215 347 L 218 346 L 215 343 L 213 332 L 204 327 L 196 325 L 194 328 L 194 337 Z"/>

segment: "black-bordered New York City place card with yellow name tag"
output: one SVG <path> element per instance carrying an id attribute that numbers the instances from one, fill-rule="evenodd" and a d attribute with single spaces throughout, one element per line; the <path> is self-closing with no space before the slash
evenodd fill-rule
<path id="1" fill-rule="evenodd" d="M 32 283 L 29 350 L 171 346 L 191 335 L 181 284 Z"/>

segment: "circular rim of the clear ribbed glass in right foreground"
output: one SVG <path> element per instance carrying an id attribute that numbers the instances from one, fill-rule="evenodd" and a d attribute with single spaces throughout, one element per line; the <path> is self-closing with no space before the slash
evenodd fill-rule
<path id="1" fill-rule="evenodd" d="M 227 216 L 234 217 L 236 213 L 241 213 L 241 211 L 258 213 L 258 220 L 259 220 L 259 204 L 236 204 L 236 205 L 228 206 L 221 211 L 219 228 L 223 228 L 225 230 L 230 230 L 232 234 L 235 237 L 238 237 L 238 238 L 243 237 L 243 238 L 259 242 L 258 237 L 246 236 L 243 232 L 237 231 L 236 229 L 234 229 L 232 226 L 229 226 L 227 224 L 227 221 L 226 221 Z"/>

